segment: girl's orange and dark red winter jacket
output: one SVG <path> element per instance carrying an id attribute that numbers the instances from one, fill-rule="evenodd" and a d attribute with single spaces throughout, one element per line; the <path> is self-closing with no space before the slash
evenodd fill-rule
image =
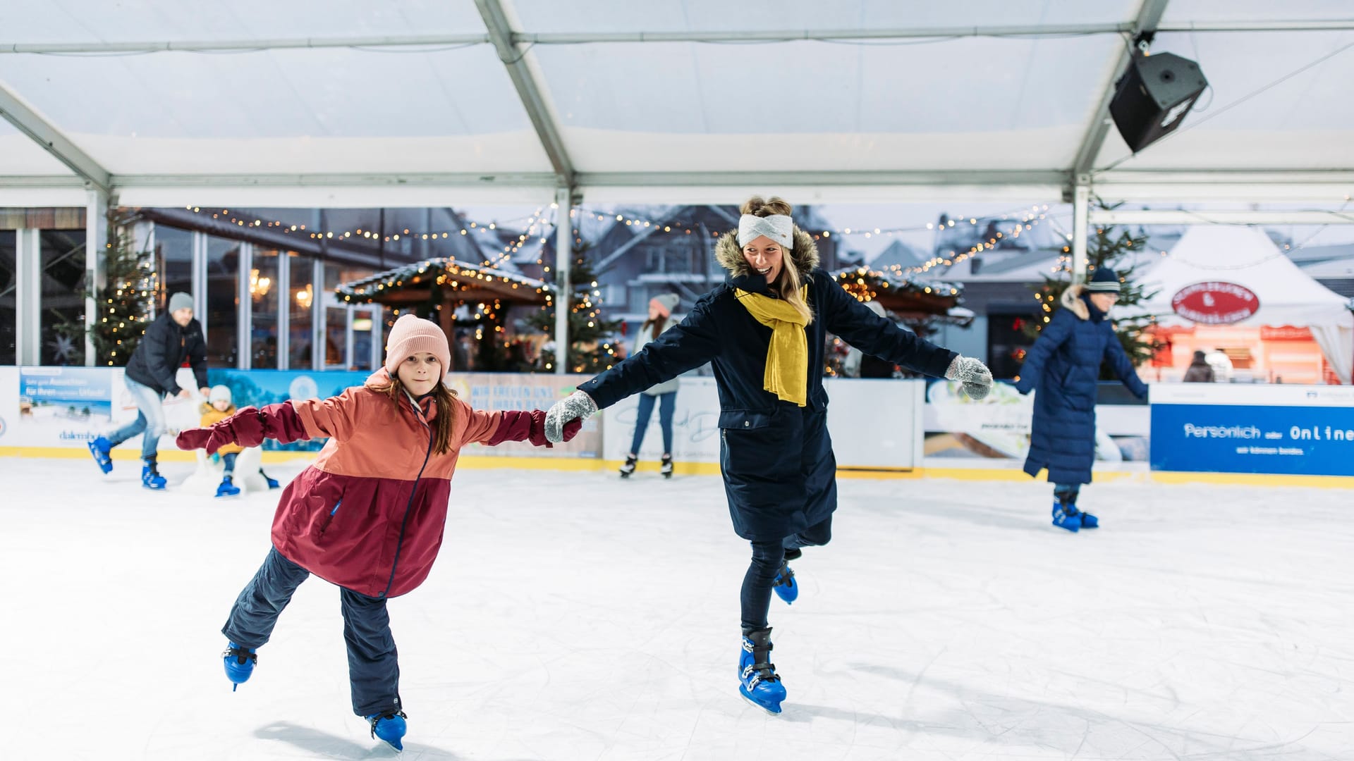
<path id="1" fill-rule="evenodd" d="M 364 386 L 328 399 L 244 408 L 210 429 L 180 433 L 179 445 L 210 452 L 227 441 L 248 447 L 328 436 L 320 458 L 283 490 L 272 543 L 320 578 L 368 597 L 397 597 L 422 584 L 437 559 L 460 448 L 548 444 L 542 410 L 479 412 L 454 398 L 451 448 L 439 455 L 429 427 L 433 401 L 414 405 L 401 394 L 397 409 L 372 390 L 389 380 L 382 368 Z M 566 440 L 577 429 L 566 429 Z"/>

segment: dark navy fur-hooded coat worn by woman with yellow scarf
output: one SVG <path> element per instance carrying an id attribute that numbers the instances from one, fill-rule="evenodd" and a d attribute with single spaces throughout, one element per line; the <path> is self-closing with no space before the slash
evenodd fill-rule
<path id="1" fill-rule="evenodd" d="M 857 302 L 818 269 L 814 240 L 798 227 L 793 265 L 808 286 L 807 406 L 780 401 L 762 389 L 770 328 L 734 297 L 734 288 L 769 294 L 751 272 L 734 233 L 716 246 L 728 269 L 723 284 L 703 295 L 686 318 L 607 372 L 581 385 L 598 408 L 643 391 L 707 362 L 719 390 L 720 469 L 734 531 L 749 540 L 779 540 L 816 525 L 837 509 L 837 459 L 827 436 L 823 390 L 825 334 L 918 372 L 944 375 L 955 352 L 903 330 Z M 868 432 L 862 432 L 868 435 Z"/>

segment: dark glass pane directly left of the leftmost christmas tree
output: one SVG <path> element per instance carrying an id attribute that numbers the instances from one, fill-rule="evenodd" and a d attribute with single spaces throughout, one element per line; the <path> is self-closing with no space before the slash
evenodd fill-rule
<path id="1" fill-rule="evenodd" d="M 69 326 L 84 321 L 84 230 L 41 230 L 42 364 L 84 364 L 84 336 Z"/>

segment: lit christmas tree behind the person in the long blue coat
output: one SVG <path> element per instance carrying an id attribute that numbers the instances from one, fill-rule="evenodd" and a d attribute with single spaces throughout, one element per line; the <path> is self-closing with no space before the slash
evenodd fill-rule
<path id="1" fill-rule="evenodd" d="M 1097 199 L 1095 204 L 1102 210 L 1112 210 L 1118 206 L 1108 206 L 1099 199 Z M 1090 274 L 1099 267 L 1109 267 L 1118 275 L 1120 291 L 1118 302 L 1114 305 L 1116 311 L 1136 313 L 1139 310 L 1131 307 L 1135 307 L 1156 295 L 1155 290 L 1147 291 L 1141 283 L 1135 280 L 1135 274 L 1137 271 L 1137 252 L 1145 251 L 1145 234 L 1133 236 L 1129 230 L 1120 230 L 1113 225 L 1097 227 L 1091 230 L 1090 236 L 1087 236 L 1087 271 L 1085 278 L 1090 278 Z M 1034 286 L 1034 295 L 1039 298 L 1040 309 L 1044 314 L 1041 320 L 1033 320 L 1025 324 L 1024 330 L 1028 336 L 1039 336 L 1040 330 L 1044 329 L 1044 325 L 1052 320 L 1053 310 L 1059 309 L 1063 291 L 1071 286 L 1071 246 L 1063 246 L 1063 256 L 1059 259 L 1060 267 L 1057 271 L 1052 275 L 1045 275 L 1043 284 Z M 1113 314 L 1114 313 L 1112 311 L 1112 318 Z M 1162 347 L 1162 343 L 1148 330 L 1151 324 L 1151 316 L 1114 320 L 1114 334 L 1118 336 L 1120 344 L 1124 347 L 1124 351 L 1128 353 L 1128 359 L 1131 359 L 1135 366 L 1140 366 L 1152 359 L 1152 355 Z M 1114 375 L 1113 370 L 1101 364 L 1102 380 L 1116 380 L 1118 376 Z"/>

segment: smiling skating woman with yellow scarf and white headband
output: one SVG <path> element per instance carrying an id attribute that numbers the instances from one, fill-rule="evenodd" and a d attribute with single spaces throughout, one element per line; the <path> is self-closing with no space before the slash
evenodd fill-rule
<path id="1" fill-rule="evenodd" d="M 785 688 L 770 662 L 772 593 L 799 594 L 788 561 L 831 539 L 837 459 L 827 435 L 823 345 L 848 344 L 926 375 L 964 383 L 974 398 L 992 375 L 976 359 L 930 344 L 867 309 L 818 268 L 814 238 L 779 198 L 743 204 L 738 232 L 715 257 L 728 271 L 680 324 L 643 351 L 581 385 L 546 414 L 546 436 L 563 424 L 707 362 L 719 391 L 720 470 L 728 513 L 753 558 L 741 590 L 739 692 L 779 714 Z"/>

